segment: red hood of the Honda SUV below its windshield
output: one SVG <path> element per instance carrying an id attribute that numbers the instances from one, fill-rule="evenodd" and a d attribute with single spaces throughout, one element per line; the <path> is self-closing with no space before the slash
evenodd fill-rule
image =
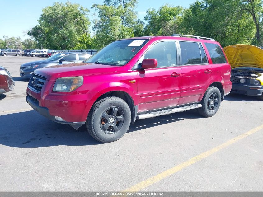
<path id="1" fill-rule="evenodd" d="M 83 62 L 39 68 L 36 69 L 34 73 L 47 77 L 47 80 L 49 81 L 55 81 L 59 77 L 76 77 L 113 73 L 116 72 L 118 69 L 118 66 Z"/>

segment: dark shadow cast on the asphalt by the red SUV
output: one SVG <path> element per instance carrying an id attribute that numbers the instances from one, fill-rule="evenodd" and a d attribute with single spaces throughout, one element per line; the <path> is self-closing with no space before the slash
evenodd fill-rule
<path id="1" fill-rule="evenodd" d="M 153 128 L 184 119 L 203 118 L 195 110 L 136 120 L 128 132 Z M 87 132 L 85 125 L 78 130 L 66 124 L 55 123 L 36 111 L 0 116 L 0 144 L 10 147 L 36 148 L 49 146 L 85 146 L 101 144 Z"/>

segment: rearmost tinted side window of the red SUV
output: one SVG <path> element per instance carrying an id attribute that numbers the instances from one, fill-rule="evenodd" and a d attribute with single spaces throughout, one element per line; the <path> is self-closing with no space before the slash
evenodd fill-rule
<path id="1" fill-rule="evenodd" d="M 205 43 L 213 64 L 227 63 L 226 57 L 218 44 Z"/>

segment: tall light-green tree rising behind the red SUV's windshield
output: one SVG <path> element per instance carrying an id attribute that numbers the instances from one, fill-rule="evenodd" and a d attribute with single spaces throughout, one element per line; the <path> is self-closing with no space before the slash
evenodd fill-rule
<path id="1" fill-rule="evenodd" d="M 99 17 L 93 21 L 97 49 L 115 40 L 134 37 L 135 27 L 141 24 L 135 12 L 136 4 L 137 0 L 106 0 L 103 5 L 92 5 Z"/>

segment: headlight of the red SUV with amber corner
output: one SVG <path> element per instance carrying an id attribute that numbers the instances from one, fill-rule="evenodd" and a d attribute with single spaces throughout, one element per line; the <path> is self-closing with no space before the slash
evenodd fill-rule
<path id="1" fill-rule="evenodd" d="M 83 84 L 83 77 L 58 78 L 53 87 L 55 92 L 72 92 Z"/>

